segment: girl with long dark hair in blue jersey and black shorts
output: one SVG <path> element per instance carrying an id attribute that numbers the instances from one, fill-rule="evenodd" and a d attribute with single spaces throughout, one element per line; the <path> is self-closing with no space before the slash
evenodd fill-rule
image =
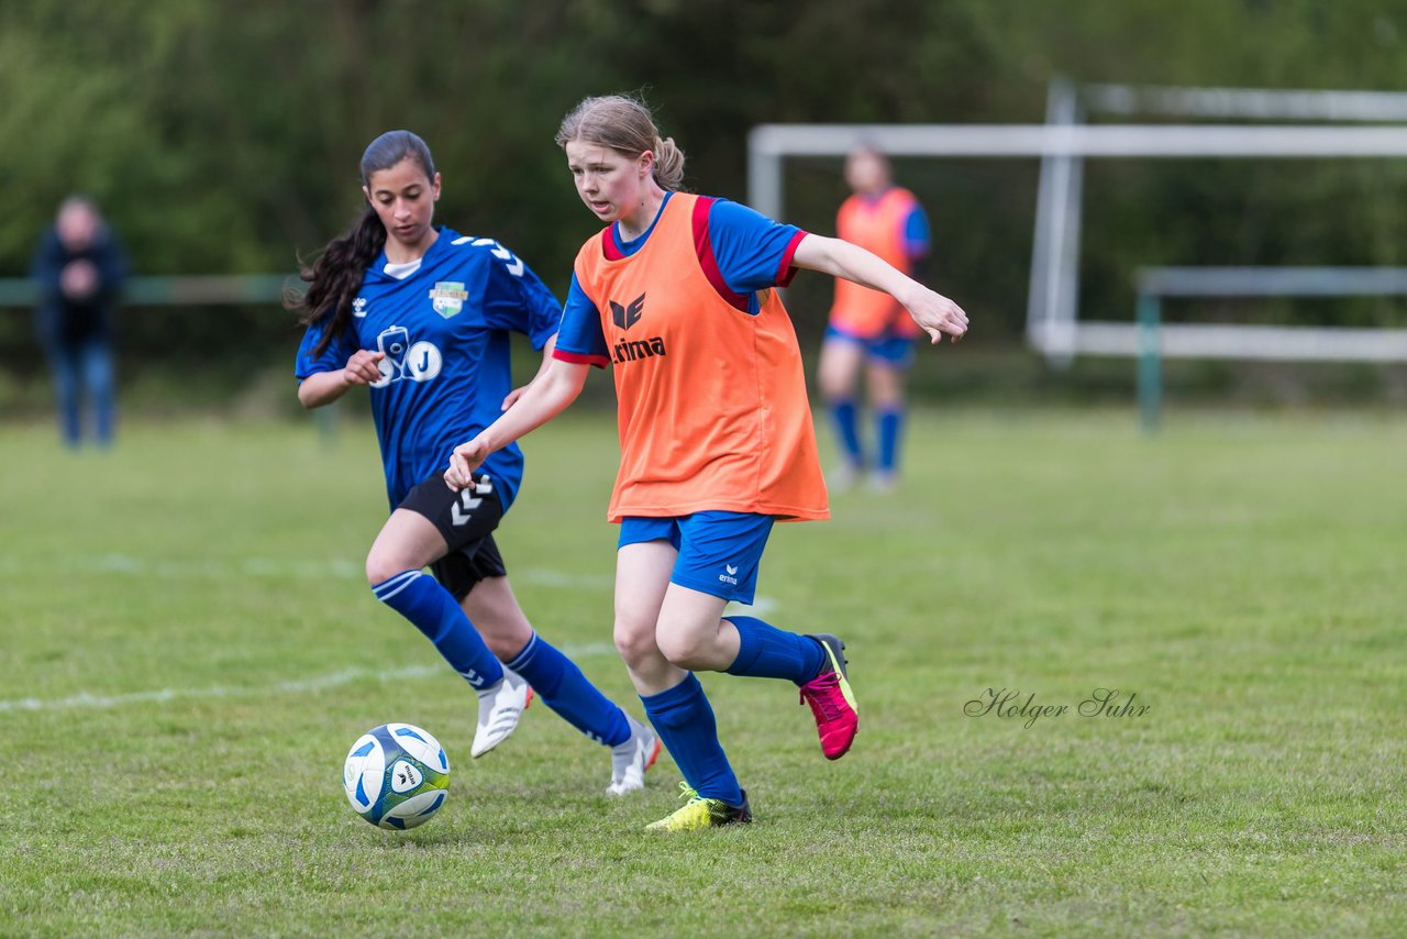
<path id="1" fill-rule="evenodd" d="M 362 183 L 360 222 L 304 272 L 311 286 L 295 308 L 308 329 L 295 374 L 308 408 L 370 389 L 393 510 L 367 553 L 371 590 L 478 693 L 473 756 L 514 731 L 532 688 L 611 748 L 608 793 L 642 788 L 660 750 L 656 735 L 532 629 L 508 584 L 492 532 L 518 493 L 522 452 L 504 448 L 485 460 L 473 491 L 450 491 L 440 477 L 454 443 L 518 396 L 508 334 L 528 335 L 550 356 L 557 300 L 498 242 L 432 224 L 440 176 L 415 134 L 373 141 Z"/>

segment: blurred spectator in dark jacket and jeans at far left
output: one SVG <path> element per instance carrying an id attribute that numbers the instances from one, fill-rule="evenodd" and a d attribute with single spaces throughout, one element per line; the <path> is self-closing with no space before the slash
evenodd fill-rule
<path id="1" fill-rule="evenodd" d="M 69 196 L 34 255 L 39 287 L 37 328 L 68 446 L 83 442 L 83 398 L 91 403 L 93 439 L 113 443 L 117 383 L 113 367 L 114 308 L 127 258 L 117 235 L 86 196 Z"/>

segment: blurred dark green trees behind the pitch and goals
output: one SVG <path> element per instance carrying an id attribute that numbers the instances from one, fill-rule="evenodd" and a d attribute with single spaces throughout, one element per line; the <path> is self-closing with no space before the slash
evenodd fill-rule
<path id="1" fill-rule="evenodd" d="M 1383 10 L 1375 0 L 11 3 L 0 7 L 0 176 L 17 198 L 0 217 L 0 276 L 27 270 L 72 190 L 108 210 L 139 273 L 293 270 L 353 221 L 363 146 L 408 127 L 445 175 L 440 218 L 501 238 L 560 291 L 594 221 L 552 137 L 584 94 L 643 90 L 689 155 L 688 184 L 744 198 L 746 134 L 767 121 L 1040 121 L 1055 75 L 1396 90 L 1407 37 Z M 933 215 L 933 283 L 982 334 L 1019 342 L 1034 160 L 896 169 Z M 788 221 L 829 232 L 839 160 L 791 160 L 788 173 Z M 1085 191 L 1082 298 L 1099 318 L 1131 314 L 1140 265 L 1396 265 L 1407 238 L 1400 162 L 1095 162 Z M 794 297 L 812 344 L 829 284 L 803 276 Z M 1403 321 L 1386 301 L 1235 315 Z M 15 318 L 0 311 L 8 362 L 28 341 Z M 182 353 L 231 345 L 218 311 L 190 318 Z M 273 332 L 236 355 L 287 358 Z M 10 367 L 24 379 L 35 365 Z"/>

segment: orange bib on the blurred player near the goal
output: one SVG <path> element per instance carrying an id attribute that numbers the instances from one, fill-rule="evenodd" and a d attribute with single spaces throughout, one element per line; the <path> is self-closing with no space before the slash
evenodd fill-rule
<path id="1" fill-rule="evenodd" d="M 841 203 L 836 214 L 836 234 L 879 255 L 905 275 L 912 275 L 913 262 L 905 239 L 905 222 L 917 204 L 915 194 L 899 186 L 886 190 L 878 198 L 857 193 Z M 836 301 L 830 308 L 830 325 L 860 339 L 874 339 L 885 334 L 917 336 L 922 332 L 898 300 L 843 277 L 836 277 Z"/>

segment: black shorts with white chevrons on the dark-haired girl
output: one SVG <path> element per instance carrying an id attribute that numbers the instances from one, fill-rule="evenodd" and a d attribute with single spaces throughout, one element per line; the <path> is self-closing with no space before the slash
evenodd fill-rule
<path id="1" fill-rule="evenodd" d="M 459 601 L 480 580 L 508 573 L 494 543 L 504 504 L 487 474 L 474 476 L 474 489 L 456 493 L 442 476 L 432 476 L 412 489 L 400 505 L 428 518 L 445 536 L 449 553 L 431 565 L 431 573 Z"/>

